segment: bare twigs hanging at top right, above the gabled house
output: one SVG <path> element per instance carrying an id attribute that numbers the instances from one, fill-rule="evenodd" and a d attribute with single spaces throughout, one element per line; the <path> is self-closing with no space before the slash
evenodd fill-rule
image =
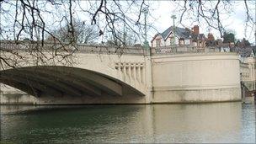
<path id="1" fill-rule="evenodd" d="M 216 29 L 219 31 L 221 37 L 224 32 L 227 31 L 225 26 L 223 26 L 223 21 L 226 20 L 233 12 L 234 5 L 237 3 L 236 1 L 230 0 L 216 0 L 216 1 L 203 1 L 203 0 L 184 0 L 183 3 L 173 2 L 178 5 L 177 9 L 179 9 L 179 23 L 183 24 L 184 19 L 189 19 L 192 22 L 197 23 L 206 23 L 209 28 Z M 244 11 L 247 15 L 247 18 L 244 19 L 246 26 L 245 30 L 248 27 L 251 29 L 255 29 L 255 20 L 253 20 L 253 16 L 256 15 L 255 1 L 243 0 Z M 254 9 L 249 8 L 254 5 Z M 252 31 L 253 32 L 253 31 Z M 256 36 L 256 30 L 255 30 Z"/>

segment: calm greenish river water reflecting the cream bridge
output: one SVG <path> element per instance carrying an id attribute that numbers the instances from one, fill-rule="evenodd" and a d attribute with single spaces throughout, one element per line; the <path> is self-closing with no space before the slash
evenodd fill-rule
<path id="1" fill-rule="evenodd" d="M 0 108 L 3 142 L 255 143 L 254 104 L 5 105 Z"/>

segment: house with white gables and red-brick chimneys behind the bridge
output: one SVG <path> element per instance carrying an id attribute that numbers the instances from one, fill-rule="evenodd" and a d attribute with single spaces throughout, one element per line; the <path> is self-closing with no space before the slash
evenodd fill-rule
<path id="1" fill-rule="evenodd" d="M 158 33 L 151 40 L 152 48 L 168 46 L 195 46 L 205 47 L 205 35 L 200 34 L 198 25 L 192 29 L 171 26 Z"/>

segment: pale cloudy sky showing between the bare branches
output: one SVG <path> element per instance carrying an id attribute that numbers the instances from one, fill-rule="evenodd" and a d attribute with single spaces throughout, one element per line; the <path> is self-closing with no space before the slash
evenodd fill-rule
<path id="1" fill-rule="evenodd" d="M 82 2 L 82 8 L 92 8 L 90 4 L 88 3 L 95 3 L 93 1 L 81 1 Z M 121 1 L 124 2 L 125 1 Z M 209 1 L 202 1 L 203 3 L 209 3 Z M 213 3 L 216 3 L 217 1 L 210 1 Z M 249 1 L 248 2 L 248 8 L 250 9 L 250 14 L 253 16 L 253 22 L 254 25 L 250 24 L 248 27 L 245 27 L 245 20 L 246 20 L 246 10 L 245 10 L 245 5 L 243 1 L 230 1 L 232 3 L 232 7 L 229 8 L 227 7 L 227 11 L 221 11 L 221 23 L 223 24 L 223 26 L 228 29 L 228 30 L 232 30 L 234 31 L 236 38 L 237 39 L 243 39 L 246 38 L 247 40 L 249 40 L 251 43 L 254 42 L 254 32 L 255 32 L 255 8 L 256 8 L 256 1 Z M 97 1 L 97 3 L 99 3 L 99 1 Z M 139 3 L 141 3 L 139 1 Z M 220 33 L 216 30 L 216 29 L 209 29 L 208 24 L 205 24 L 204 21 L 200 20 L 200 24 L 198 22 L 191 22 L 191 20 L 189 19 L 184 19 L 183 20 L 183 24 L 181 25 L 179 24 L 179 16 L 182 13 L 181 11 L 181 7 L 184 5 L 184 1 L 181 0 L 176 0 L 175 2 L 170 2 L 170 1 L 145 1 L 145 3 L 147 3 L 150 7 L 149 7 L 149 14 L 147 16 L 147 23 L 149 25 L 152 25 L 152 27 L 148 27 L 150 29 L 148 29 L 147 32 L 147 40 L 150 41 L 152 40 L 153 36 L 156 35 L 158 32 L 162 33 L 165 29 L 168 29 L 168 27 L 170 27 L 171 25 L 173 25 L 173 19 L 171 19 L 171 16 L 173 14 L 175 14 L 177 16 L 177 19 L 175 21 L 175 25 L 179 26 L 179 27 L 187 27 L 187 28 L 192 28 L 193 25 L 198 24 L 200 26 L 200 33 L 203 33 L 205 35 L 207 35 L 209 32 L 213 33 L 215 35 L 216 38 L 220 38 L 221 35 Z M 48 9 L 48 11 L 51 11 L 53 8 L 50 8 L 51 5 L 45 7 L 46 9 Z M 94 6 L 94 5 L 93 5 Z M 78 8 L 78 6 L 76 6 Z M 211 8 L 211 5 L 206 5 L 205 4 L 205 8 Z M 96 5 L 97 8 L 97 5 Z M 136 19 L 137 17 L 137 12 L 139 7 L 135 7 L 134 8 L 129 8 L 127 10 L 127 13 L 130 14 L 131 17 L 134 17 L 134 19 Z M 222 8 L 222 7 L 221 7 Z M 226 8 L 226 7 L 225 7 Z M 60 6 L 60 8 L 55 8 L 55 11 L 57 12 L 55 15 L 50 15 L 50 14 L 45 14 L 45 20 L 48 22 L 52 22 L 55 21 L 57 18 L 62 18 L 63 15 L 67 14 L 63 13 L 63 11 L 65 12 L 66 6 L 64 5 L 63 7 Z M 14 12 L 14 9 L 13 11 Z M 226 13 L 228 12 L 228 13 Z M 89 15 L 86 14 L 81 14 L 77 11 L 77 13 L 75 13 L 77 15 L 77 17 L 82 18 L 83 20 L 87 21 L 88 24 L 90 23 L 90 19 L 91 17 Z M 133 14 L 133 15 L 132 15 Z M 188 14 L 192 14 L 193 13 L 188 13 Z M 21 14 L 19 14 L 19 16 L 21 17 Z M 3 17 L 2 17 L 3 18 Z M 189 16 L 184 18 L 189 18 Z M 55 20 L 52 20 L 55 19 Z M 141 22 L 143 21 L 143 16 L 141 17 Z M 104 20 L 99 20 L 99 22 L 103 22 Z M 1 21 L 1 23 L 3 23 L 3 20 Z M 7 25 L 9 25 L 8 21 L 5 22 Z M 101 23 L 104 24 L 104 23 Z M 50 24 L 50 28 L 53 27 L 53 25 L 56 25 L 55 23 Z M 12 26 L 12 25 L 11 25 Z M 123 24 L 120 24 L 120 27 L 122 27 Z M 253 26 L 253 28 L 251 28 L 250 26 Z M 54 26 L 55 28 L 56 26 Z M 245 29 L 247 28 L 247 29 Z M 246 30 L 246 31 L 245 31 Z M 143 29 L 141 29 L 141 31 L 139 33 L 143 33 Z M 100 39 L 101 40 L 101 39 Z"/>

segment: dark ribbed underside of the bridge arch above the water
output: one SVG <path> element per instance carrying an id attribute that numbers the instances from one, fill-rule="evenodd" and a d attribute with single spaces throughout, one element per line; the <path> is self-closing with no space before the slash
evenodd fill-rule
<path id="1" fill-rule="evenodd" d="M 0 83 L 35 97 L 145 95 L 115 77 L 78 67 L 36 66 L 7 69 L 0 71 Z"/>

